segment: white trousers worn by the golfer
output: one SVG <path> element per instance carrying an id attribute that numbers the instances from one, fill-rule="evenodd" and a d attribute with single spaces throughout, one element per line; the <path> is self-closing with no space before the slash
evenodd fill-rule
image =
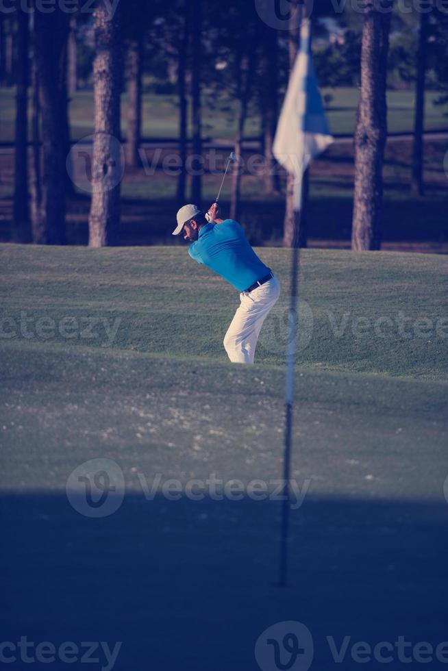
<path id="1" fill-rule="evenodd" d="M 224 336 L 224 347 L 230 361 L 253 364 L 261 327 L 279 295 L 280 283 L 275 275 L 249 294 L 240 293 L 240 307 Z"/>

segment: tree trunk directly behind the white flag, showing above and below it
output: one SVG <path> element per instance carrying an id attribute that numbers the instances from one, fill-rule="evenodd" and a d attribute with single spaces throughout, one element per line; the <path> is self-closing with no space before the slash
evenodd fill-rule
<path id="1" fill-rule="evenodd" d="M 293 5 L 290 14 L 290 25 L 293 26 L 289 31 L 289 72 L 293 71 L 297 51 L 300 46 L 300 21 L 297 21 L 297 12 L 304 13 L 306 8 Z M 295 177 L 291 173 L 286 175 L 286 203 L 285 218 L 283 225 L 283 246 L 284 247 L 306 247 L 307 242 L 307 223 L 306 211 L 308 207 L 308 170 L 303 175 L 301 209 L 295 210 L 294 207 L 294 184 Z"/>

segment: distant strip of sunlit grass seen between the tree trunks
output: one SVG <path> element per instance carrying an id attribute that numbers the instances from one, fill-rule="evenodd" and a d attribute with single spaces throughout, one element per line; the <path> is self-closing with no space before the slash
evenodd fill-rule
<path id="1" fill-rule="evenodd" d="M 329 126 L 334 134 L 351 134 L 356 122 L 358 89 L 323 89 L 323 94 L 331 94 L 328 105 Z M 425 101 L 425 129 L 448 127 L 448 105 L 434 106 L 438 94 L 427 91 Z M 203 97 L 203 136 L 233 139 L 236 131 L 236 102 L 212 107 L 214 100 Z M 122 132 L 126 131 L 126 96 L 122 97 Z M 91 90 L 78 91 L 71 103 L 71 137 L 79 140 L 93 132 L 93 95 Z M 14 88 L 0 90 L 0 116 L 2 119 L 0 141 L 14 139 Z M 142 134 L 151 138 L 176 138 L 179 133 L 177 97 L 174 95 L 145 94 L 143 97 Z M 414 123 L 414 93 L 412 91 L 388 91 L 388 129 L 390 132 L 410 132 Z M 250 116 L 245 130 L 247 136 L 260 133 L 258 115 Z"/>

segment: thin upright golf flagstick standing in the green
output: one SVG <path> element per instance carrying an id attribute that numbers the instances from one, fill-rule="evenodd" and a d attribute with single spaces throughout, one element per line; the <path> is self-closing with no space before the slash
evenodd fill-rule
<path id="1" fill-rule="evenodd" d="M 303 12 L 303 8 L 302 8 Z M 304 13 L 303 13 L 304 14 Z M 302 16 L 303 16 L 302 14 Z M 301 38 L 299 52 L 307 54 L 310 48 L 310 23 L 306 22 L 301 27 Z M 296 58 L 299 57 L 297 53 Z M 305 110 L 302 110 L 304 122 Z M 304 123 L 303 123 L 304 125 Z M 304 128 L 303 128 L 304 130 Z M 299 156 L 299 162 L 303 166 L 304 152 Z M 303 216 L 303 170 L 301 170 L 300 179 L 296 177 L 295 181 L 295 212 L 294 226 L 301 225 Z M 293 253 L 291 257 L 290 268 L 290 304 L 288 314 L 288 341 L 286 349 L 286 388 L 285 388 L 285 429 L 284 429 L 284 457 L 283 457 L 283 481 L 284 493 L 282 501 L 282 528 L 280 533 L 280 561 L 279 561 L 279 587 L 286 587 L 288 581 L 288 543 L 289 537 L 289 517 L 290 517 L 290 464 L 291 447 L 293 442 L 293 412 L 294 412 L 294 385 L 295 385 L 295 355 L 297 338 L 297 303 L 299 299 L 299 273 L 300 273 L 300 249 L 299 236 L 297 231 L 293 236 Z"/>

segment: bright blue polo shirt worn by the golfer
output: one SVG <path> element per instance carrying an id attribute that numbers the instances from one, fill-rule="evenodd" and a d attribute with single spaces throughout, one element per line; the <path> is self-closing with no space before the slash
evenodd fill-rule
<path id="1" fill-rule="evenodd" d="M 188 254 L 221 275 L 238 291 L 244 291 L 270 271 L 247 242 L 242 227 L 233 219 L 203 226 L 199 238 L 188 247 Z"/>

